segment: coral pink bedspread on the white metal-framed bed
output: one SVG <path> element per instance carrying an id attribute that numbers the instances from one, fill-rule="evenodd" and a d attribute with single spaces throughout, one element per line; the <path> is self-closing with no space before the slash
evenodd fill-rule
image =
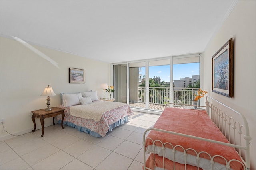
<path id="1" fill-rule="evenodd" d="M 228 143 L 226 137 L 208 117 L 206 111 L 166 108 L 159 119 L 156 121 L 154 128 Z M 208 152 L 211 156 L 222 155 L 227 160 L 237 159 L 241 161 L 236 150 L 225 145 L 200 141 L 198 139 L 191 139 L 159 131 L 150 131 L 148 137 L 152 138 L 153 140 L 159 139 L 163 143 L 170 142 L 174 146 L 182 145 L 185 149 L 193 148 L 197 152 L 205 151 Z M 152 145 L 151 140 L 146 140 L 146 146 L 148 145 Z M 160 143 L 156 143 L 156 145 L 162 146 Z M 170 145 L 167 145 L 166 147 L 170 147 Z M 179 149 L 177 148 L 177 150 Z M 181 149 L 180 151 L 183 152 Z M 189 154 L 196 156 L 194 152 L 189 152 Z M 203 154 L 200 157 L 209 159 L 206 154 Z M 214 162 L 226 164 L 222 158 L 215 158 Z M 242 165 L 240 163 L 236 164 L 236 162 L 233 162 L 231 167 L 235 170 L 242 169 Z"/>

